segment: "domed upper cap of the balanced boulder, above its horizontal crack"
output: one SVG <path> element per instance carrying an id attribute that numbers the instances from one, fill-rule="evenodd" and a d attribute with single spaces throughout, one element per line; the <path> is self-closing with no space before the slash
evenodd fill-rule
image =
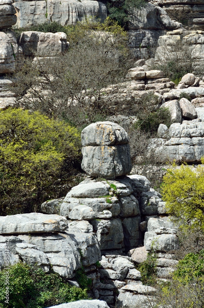
<path id="1" fill-rule="evenodd" d="M 82 146 L 115 145 L 128 143 L 128 134 L 124 128 L 113 122 L 96 122 L 81 132 Z"/>

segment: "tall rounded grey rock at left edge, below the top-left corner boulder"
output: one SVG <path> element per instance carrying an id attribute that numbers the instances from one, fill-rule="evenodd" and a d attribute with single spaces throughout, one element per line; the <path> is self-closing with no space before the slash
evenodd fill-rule
<path id="1" fill-rule="evenodd" d="M 15 70 L 10 38 L 4 32 L 0 32 L 0 74 L 11 73 Z"/>

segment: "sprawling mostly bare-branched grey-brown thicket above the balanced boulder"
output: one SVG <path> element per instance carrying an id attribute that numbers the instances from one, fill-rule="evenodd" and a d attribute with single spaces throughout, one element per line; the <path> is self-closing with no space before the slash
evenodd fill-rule
<path id="1" fill-rule="evenodd" d="M 35 66 L 26 59 L 10 90 L 25 108 L 83 128 L 105 119 L 111 103 L 100 90 L 123 81 L 131 65 L 126 32 L 110 18 L 64 28 L 71 43 L 67 54 Z"/>

